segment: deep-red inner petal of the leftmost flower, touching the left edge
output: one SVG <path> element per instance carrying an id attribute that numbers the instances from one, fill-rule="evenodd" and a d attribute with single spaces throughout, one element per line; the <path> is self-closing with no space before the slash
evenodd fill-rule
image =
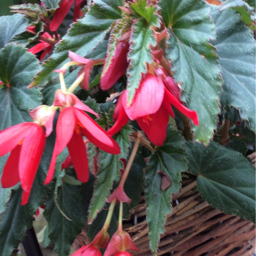
<path id="1" fill-rule="evenodd" d="M 20 181 L 18 168 L 20 149 L 21 145 L 17 145 L 15 148 L 13 148 L 4 165 L 4 171 L 1 178 L 2 188 L 11 188 Z"/>

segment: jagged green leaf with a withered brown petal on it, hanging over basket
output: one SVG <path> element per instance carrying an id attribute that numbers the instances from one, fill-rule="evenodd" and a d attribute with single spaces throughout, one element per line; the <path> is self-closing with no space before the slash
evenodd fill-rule
<path id="1" fill-rule="evenodd" d="M 147 204 L 147 222 L 149 227 L 149 245 L 156 255 L 160 234 L 164 233 L 165 216 L 171 213 L 171 195 L 180 189 L 181 172 L 187 170 L 186 153 L 182 148 L 185 140 L 181 133 L 168 126 L 164 145 L 156 148 L 147 162 L 145 171 L 145 199 Z M 171 179 L 171 186 L 165 191 L 161 188 L 164 172 Z"/>

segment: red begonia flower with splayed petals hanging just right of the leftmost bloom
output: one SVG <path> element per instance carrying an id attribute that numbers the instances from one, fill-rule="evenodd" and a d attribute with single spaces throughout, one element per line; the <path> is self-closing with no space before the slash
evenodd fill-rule
<path id="1" fill-rule="evenodd" d="M 82 133 L 94 145 L 110 154 L 120 154 L 120 148 L 115 140 L 103 130 L 84 111 L 98 116 L 91 108 L 87 107 L 73 93 L 56 91 L 54 106 L 61 110 L 56 125 L 56 141 L 52 153 L 52 160 L 44 184 L 48 184 L 53 177 L 57 156 L 67 146 L 77 179 L 81 182 L 88 181 L 89 169 Z M 84 111 L 82 111 L 84 110 Z"/>

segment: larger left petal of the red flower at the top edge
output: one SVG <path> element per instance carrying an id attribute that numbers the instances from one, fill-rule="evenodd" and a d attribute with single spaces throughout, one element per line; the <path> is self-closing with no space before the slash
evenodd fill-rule
<path id="1" fill-rule="evenodd" d="M 71 8 L 74 0 L 63 0 L 60 7 L 55 11 L 52 21 L 50 23 L 50 30 L 55 31 L 59 28 L 60 24 L 67 15 L 69 9 Z"/>

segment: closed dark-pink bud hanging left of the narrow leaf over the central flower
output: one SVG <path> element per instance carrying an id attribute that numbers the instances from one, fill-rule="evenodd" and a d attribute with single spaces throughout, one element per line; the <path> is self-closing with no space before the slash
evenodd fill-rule
<path id="1" fill-rule="evenodd" d="M 103 72 L 100 77 L 100 87 L 103 91 L 111 88 L 116 81 L 124 75 L 128 68 L 129 62 L 127 61 L 127 53 L 129 51 L 129 43 L 127 41 L 120 41 L 116 46 L 115 55 L 111 59 L 111 64 L 106 73 L 106 63 L 103 66 Z"/>

